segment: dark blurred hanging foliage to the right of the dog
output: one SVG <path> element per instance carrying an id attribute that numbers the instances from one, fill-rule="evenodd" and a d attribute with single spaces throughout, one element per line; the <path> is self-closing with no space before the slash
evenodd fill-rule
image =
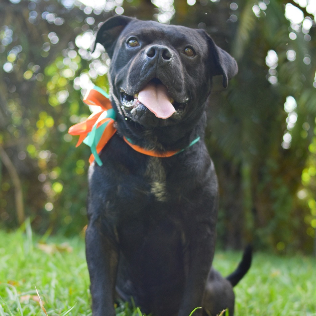
<path id="1" fill-rule="evenodd" d="M 280 252 L 311 252 L 314 216 L 307 205 L 316 191 L 312 182 L 304 188 L 301 175 L 315 166 L 308 150 L 316 134 L 315 21 L 294 2 L 313 26 L 288 21 L 288 2 L 240 3 L 228 41 L 239 74 L 220 101 L 211 100 L 210 152 L 222 195 L 228 193 L 219 231 L 226 245 L 240 247 L 244 237 Z"/>

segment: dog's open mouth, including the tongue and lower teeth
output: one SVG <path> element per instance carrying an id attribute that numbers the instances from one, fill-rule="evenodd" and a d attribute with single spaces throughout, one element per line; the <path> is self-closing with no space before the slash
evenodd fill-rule
<path id="1" fill-rule="evenodd" d="M 176 102 L 167 87 L 157 78 L 133 95 L 121 89 L 121 104 L 125 110 L 131 112 L 144 106 L 159 119 L 168 119 L 174 113 L 180 114 L 184 111 L 187 102 L 188 100 L 184 103 Z"/>

